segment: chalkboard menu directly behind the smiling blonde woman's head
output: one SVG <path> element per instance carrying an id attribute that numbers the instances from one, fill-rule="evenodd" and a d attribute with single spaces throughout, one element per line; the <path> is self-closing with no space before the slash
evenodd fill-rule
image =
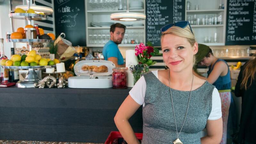
<path id="1" fill-rule="evenodd" d="M 185 20 L 185 0 L 146 0 L 146 42 L 161 46 L 164 25 Z"/>

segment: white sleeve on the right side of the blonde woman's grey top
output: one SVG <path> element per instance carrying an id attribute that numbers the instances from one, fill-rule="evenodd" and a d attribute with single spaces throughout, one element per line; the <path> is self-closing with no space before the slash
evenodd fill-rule
<path id="1" fill-rule="evenodd" d="M 220 94 L 216 88 L 212 92 L 212 111 L 208 120 L 216 120 L 222 116 Z"/>

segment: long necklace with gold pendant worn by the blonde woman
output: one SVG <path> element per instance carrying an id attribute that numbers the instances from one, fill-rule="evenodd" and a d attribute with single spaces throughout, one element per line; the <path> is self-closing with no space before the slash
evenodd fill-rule
<path id="1" fill-rule="evenodd" d="M 191 89 L 190 89 L 190 94 L 189 94 L 189 98 L 188 98 L 188 107 L 189 107 L 189 101 L 190 101 L 190 97 L 191 97 L 191 93 L 192 93 L 193 80 L 194 80 L 194 75 L 193 75 L 193 77 L 192 77 Z M 170 93 L 171 93 L 171 100 L 172 100 L 170 69 L 169 69 L 169 86 L 170 86 Z M 184 124 L 185 124 L 185 120 L 186 120 L 186 117 L 187 117 L 187 114 L 188 114 L 188 107 L 187 107 L 186 115 L 185 115 L 185 118 L 184 118 L 184 122 L 183 122 L 183 124 L 182 124 L 182 126 L 181 126 L 180 132 L 181 132 L 181 130 L 182 130 Z M 180 141 L 180 139 L 179 139 L 180 132 L 178 133 L 178 129 L 177 129 L 176 118 L 175 118 L 174 107 L 173 107 L 173 100 L 172 100 L 172 110 L 173 110 L 174 122 L 175 122 L 176 132 L 177 132 L 177 139 L 176 139 L 175 141 L 173 141 L 173 143 L 174 143 L 174 144 L 183 144 L 183 143 Z"/>

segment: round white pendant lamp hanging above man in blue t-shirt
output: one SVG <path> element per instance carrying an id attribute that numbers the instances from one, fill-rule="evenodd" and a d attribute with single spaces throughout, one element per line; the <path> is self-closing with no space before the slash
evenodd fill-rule
<path id="1" fill-rule="evenodd" d="M 112 13 L 110 15 L 111 20 L 120 20 L 120 21 L 136 21 L 136 20 L 145 20 L 146 15 L 139 12 L 129 12 L 129 0 L 127 0 L 127 11 Z"/>

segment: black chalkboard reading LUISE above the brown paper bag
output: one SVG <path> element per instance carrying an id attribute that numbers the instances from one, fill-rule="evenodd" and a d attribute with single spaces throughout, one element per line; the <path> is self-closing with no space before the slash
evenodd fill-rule
<path id="1" fill-rule="evenodd" d="M 73 46 L 86 46 L 84 0 L 54 0 L 56 35 L 66 34 Z"/>

